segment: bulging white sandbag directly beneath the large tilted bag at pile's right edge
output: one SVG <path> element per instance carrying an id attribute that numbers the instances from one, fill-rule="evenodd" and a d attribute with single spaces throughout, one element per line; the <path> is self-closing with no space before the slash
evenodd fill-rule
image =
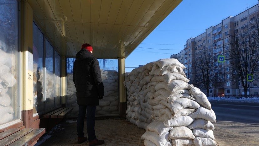
<path id="1" fill-rule="evenodd" d="M 194 119 L 205 119 L 210 122 L 216 122 L 215 112 L 202 106 L 199 107 L 194 113 L 189 114 L 189 116 Z"/>

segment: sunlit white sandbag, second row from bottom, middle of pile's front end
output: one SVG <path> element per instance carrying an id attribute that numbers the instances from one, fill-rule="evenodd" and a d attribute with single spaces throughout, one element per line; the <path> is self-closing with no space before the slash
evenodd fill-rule
<path id="1" fill-rule="evenodd" d="M 188 138 L 194 139 L 194 135 L 191 129 L 186 126 L 178 126 L 174 127 L 170 133 L 169 138 L 176 139 L 176 138 Z"/>

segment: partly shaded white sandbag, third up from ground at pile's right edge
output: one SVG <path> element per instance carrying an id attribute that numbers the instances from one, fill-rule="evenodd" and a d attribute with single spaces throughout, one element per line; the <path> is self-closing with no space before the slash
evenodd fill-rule
<path id="1" fill-rule="evenodd" d="M 214 125 L 205 119 L 195 119 L 194 122 L 192 122 L 189 126 L 190 129 L 195 129 L 195 128 L 202 128 L 206 130 L 214 130 L 215 127 Z"/>

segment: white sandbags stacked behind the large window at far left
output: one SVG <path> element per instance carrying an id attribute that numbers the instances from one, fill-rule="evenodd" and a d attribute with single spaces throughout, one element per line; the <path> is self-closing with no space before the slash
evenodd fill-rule
<path id="1" fill-rule="evenodd" d="M 8 91 L 17 83 L 15 56 L 0 50 L 0 124 L 13 120 L 13 107 Z"/>

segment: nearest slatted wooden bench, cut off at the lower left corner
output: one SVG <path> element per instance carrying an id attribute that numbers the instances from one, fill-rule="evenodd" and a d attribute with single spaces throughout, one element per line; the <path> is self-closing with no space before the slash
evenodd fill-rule
<path id="1" fill-rule="evenodd" d="M 1 146 L 32 146 L 45 133 L 45 128 L 13 128 L 0 133 Z"/>

